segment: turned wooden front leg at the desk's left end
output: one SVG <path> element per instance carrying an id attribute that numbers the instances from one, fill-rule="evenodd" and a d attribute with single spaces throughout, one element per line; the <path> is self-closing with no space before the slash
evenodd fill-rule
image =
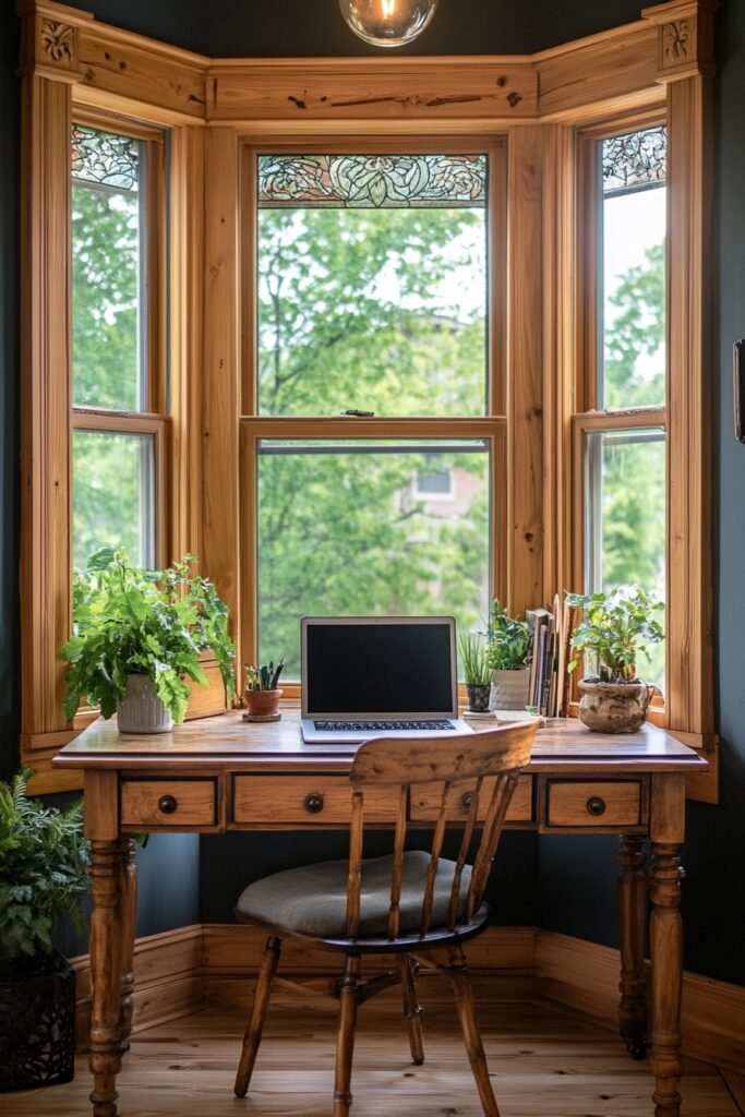
<path id="1" fill-rule="evenodd" d="M 122 1066 L 122 840 L 94 839 L 90 846 L 90 1100 L 94 1117 L 115 1117 Z"/>

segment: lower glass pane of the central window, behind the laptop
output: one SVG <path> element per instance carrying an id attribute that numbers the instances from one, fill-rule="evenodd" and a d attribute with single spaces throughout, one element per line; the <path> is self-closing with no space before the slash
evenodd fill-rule
<path id="1" fill-rule="evenodd" d="M 258 647 L 299 677 L 306 614 L 455 614 L 490 600 L 490 443 L 485 439 L 259 439 Z M 418 493 L 439 468 L 452 499 Z"/>

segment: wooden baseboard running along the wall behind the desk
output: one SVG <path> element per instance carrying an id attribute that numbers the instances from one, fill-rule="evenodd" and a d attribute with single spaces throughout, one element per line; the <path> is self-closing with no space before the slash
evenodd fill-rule
<path id="1" fill-rule="evenodd" d="M 264 951 L 266 935 L 252 927 L 209 924 L 140 939 L 135 947 L 133 1028 L 174 1020 L 210 1003 L 245 1006 Z M 619 1003 L 619 952 L 596 943 L 535 927 L 490 927 L 468 945 L 477 989 L 498 978 L 499 999 L 547 996 L 615 1028 Z M 386 965 L 384 958 L 378 960 Z M 390 961 L 390 960 L 389 960 Z M 78 1035 L 89 1028 L 89 967 L 77 971 Z M 328 955 L 288 942 L 283 970 L 298 977 L 331 974 Z M 745 1067 L 745 989 L 684 974 L 682 1050 L 685 1054 L 742 1075 Z"/>

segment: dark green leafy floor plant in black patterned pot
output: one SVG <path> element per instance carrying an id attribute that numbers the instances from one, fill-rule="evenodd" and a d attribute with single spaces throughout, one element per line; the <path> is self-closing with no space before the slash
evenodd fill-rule
<path id="1" fill-rule="evenodd" d="M 28 799 L 31 774 L 0 783 L 0 1092 L 74 1073 L 75 973 L 51 933 L 60 915 L 82 922 L 88 843 L 80 802 Z"/>

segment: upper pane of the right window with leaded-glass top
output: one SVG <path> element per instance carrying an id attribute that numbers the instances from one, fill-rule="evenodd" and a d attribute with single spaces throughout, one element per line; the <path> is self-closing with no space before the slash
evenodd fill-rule
<path id="1" fill-rule="evenodd" d="M 598 144 L 598 407 L 665 403 L 667 131 Z"/>

